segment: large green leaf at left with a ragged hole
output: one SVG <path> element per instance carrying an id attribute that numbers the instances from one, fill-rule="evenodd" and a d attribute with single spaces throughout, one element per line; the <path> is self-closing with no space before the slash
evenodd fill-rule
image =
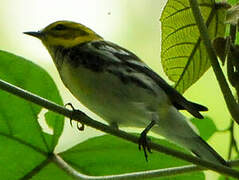
<path id="1" fill-rule="evenodd" d="M 62 104 L 46 71 L 26 59 L 0 51 L 0 79 Z M 54 151 L 62 133 L 64 117 L 49 112 L 42 131 L 38 115 L 42 108 L 0 90 L 0 179 L 19 179 L 31 173 Z M 4 166 L 3 166 L 4 164 Z"/>

